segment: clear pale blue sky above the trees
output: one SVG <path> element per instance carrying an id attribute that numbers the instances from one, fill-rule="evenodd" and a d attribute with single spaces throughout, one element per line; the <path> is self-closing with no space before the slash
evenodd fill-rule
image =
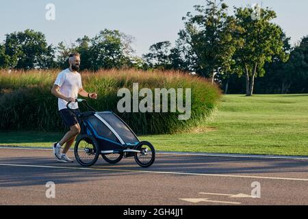
<path id="1" fill-rule="evenodd" d="M 0 0 L 0 42 L 5 34 L 25 29 L 42 31 L 49 44 L 70 44 L 84 35 L 93 37 L 99 31 L 118 29 L 133 36 L 137 55 L 149 51 L 151 44 L 169 40 L 172 44 L 183 29 L 181 18 L 193 12 L 204 0 Z M 308 35 L 307 0 L 225 0 L 229 12 L 233 6 L 259 3 L 277 12 L 279 24 L 292 44 Z M 55 5 L 55 20 L 47 21 L 46 5 Z"/>

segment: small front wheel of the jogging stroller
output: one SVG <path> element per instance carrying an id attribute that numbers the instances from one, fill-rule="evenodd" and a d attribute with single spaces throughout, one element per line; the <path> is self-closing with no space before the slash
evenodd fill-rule
<path id="1" fill-rule="evenodd" d="M 135 160 L 139 166 L 149 167 L 155 161 L 155 149 L 150 142 L 140 142 L 136 145 L 135 150 L 140 152 L 135 153 Z"/>

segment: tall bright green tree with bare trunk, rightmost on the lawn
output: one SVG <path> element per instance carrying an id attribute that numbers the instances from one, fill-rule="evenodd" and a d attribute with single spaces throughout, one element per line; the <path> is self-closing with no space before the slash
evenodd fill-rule
<path id="1" fill-rule="evenodd" d="M 279 25 L 271 23 L 276 13 L 260 8 L 257 19 L 252 16 L 254 13 L 254 8 L 235 8 L 237 25 L 244 30 L 239 36 L 244 44 L 235 53 L 233 69 L 246 77 L 246 96 L 253 95 L 255 77 L 265 74 L 266 62 L 272 62 L 275 55 L 283 62 L 288 58 L 283 50 L 283 31 Z"/>

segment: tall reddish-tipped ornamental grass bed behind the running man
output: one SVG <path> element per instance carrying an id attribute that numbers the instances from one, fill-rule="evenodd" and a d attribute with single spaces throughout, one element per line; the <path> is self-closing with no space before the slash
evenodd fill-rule
<path id="1" fill-rule="evenodd" d="M 0 70 L 0 129 L 10 130 L 63 130 L 57 113 L 57 99 L 51 94 L 53 82 L 60 70 L 31 70 L 12 72 Z M 84 89 L 97 92 L 98 99 L 88 99 L 99 111 L 111 110 L 118 114 L 138 134 L 161 134 L 188 131 L 204 123 L 216 110 L 220 90 L 207 80 L 179 71 L 99 70 L 81 73 Z M 119 113 L 117 96 L 120 88 L 133 83 L 142 88 L 191 88 L 192 115 L 189 120 L 179 120 L 175 113 Z M 139 98 L 142 99 L 141 97 Z M 185 101 L 185 97 L 184 97 Z M 170 102 L 170 101 L 169 101 Z M 81 107 L 81 106 L 80 106 Z M 84 108 L 81 107 L 81 110 Z M 132 111 L 132 110 L 131 110 Z"/>

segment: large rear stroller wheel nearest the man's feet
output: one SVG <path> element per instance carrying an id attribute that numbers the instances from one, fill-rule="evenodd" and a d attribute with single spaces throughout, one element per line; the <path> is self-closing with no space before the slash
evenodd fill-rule
<path id="1" fill-rule="evenodd" d="M 92 136 L 80 136 L 76 141 L 74 153 L 81 166 L 92 166 L 99 159 L 99 144 Z"/>

